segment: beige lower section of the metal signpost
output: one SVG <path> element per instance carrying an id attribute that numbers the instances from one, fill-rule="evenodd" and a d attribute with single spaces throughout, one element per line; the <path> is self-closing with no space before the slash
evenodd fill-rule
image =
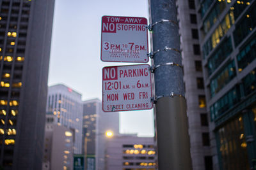
<path id="1" fill-rule="evenodd" d="M 159 170 L 191 170 L 184 97 L 161 97 L 156 103 L 156 122 Z"/>

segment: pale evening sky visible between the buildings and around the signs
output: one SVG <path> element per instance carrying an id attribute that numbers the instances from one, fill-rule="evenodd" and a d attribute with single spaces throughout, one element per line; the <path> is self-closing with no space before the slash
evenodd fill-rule
<path id="1" fill-rule="evenodd" d="M 82 94 L 83 101 L 102 99 L 102 67 L 127 65 L 100 60 L 103 15 L 148 18 L 148 3 L 147 0 L 55 0 L 49 86 L 63 83 Z M 120 113 L 120 132 L 154 136 L 153 122 L 152 110 L 124 111 Z"/>

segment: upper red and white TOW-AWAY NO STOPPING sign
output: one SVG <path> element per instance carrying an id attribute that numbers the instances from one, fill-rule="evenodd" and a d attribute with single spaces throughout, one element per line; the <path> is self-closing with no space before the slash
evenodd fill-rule
<path id="1" fill-rule="evenodd" d="M 108 62 L 148 62 L 147 18 L 103 16 L 100 59 Z"/>

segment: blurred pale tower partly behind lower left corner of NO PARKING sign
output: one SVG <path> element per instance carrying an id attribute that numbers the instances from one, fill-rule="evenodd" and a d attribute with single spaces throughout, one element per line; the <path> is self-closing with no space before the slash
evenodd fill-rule
<path id="1" fill-rule="evenodd" d="M 95 163 L 95 169 L 105 169 L 106 131 L 113 132 L 114 136 L 119 134 L 119 113 L 102 111 L 102 102 L 99 99 L 84 101 L 83 152 L 90 159 L 86 159 L 87 167 L 88 163 Z"/>

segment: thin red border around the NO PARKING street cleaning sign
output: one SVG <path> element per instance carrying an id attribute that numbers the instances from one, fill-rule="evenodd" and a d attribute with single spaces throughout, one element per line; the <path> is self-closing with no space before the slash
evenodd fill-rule
<path id="1" fill-rule="evenodd" d="M 137 64 L 137 65 L 125 65 L 125 66 L 107 66 L 107 67 L 115 67 L 115 68 L 117 68 L 117 67 L 131 67 L 131 66 L 145 66 L 145 65 L 147 65 L 148 67 L 150 67 L 150 65 L 149 64 Z M 104 68 L 107 68 L 107 67 L 103 67 L 102 68 L 102 111 L 104 111 L 104 112 L 113 112 L 113 111 L 105 111 L 104 110 L 104 97 L 103 97 L 103 70 L 104 70 Z M 148 70 L 149 71 L 149 70 Z M 152 74 L 151 74 L 151 72 L 149 71 L 149 76 L 150 76 L 150 91 L 151 91 L 151 94 L 150 94 L 150 97 L 152 97 L 152 95 L 153 95 L 153 91 L 152 91 L 152 81 L 151 81 L 151 79 L 152 79 Z M 105 80 L 104 80 L 105 81 Z M 151 107 L 150 108 L 147 108 L 147 109 L 134 109 L 134 110 L 151 110 L 152 108 L 153 108 L 153 103 L 151 103 L 152 105 L 151 105 Z M 114 112 L 118 112 L 118 111 L 134 111 L 134 110 L 117 110 L 117 111 L 114 111 Z"/>

